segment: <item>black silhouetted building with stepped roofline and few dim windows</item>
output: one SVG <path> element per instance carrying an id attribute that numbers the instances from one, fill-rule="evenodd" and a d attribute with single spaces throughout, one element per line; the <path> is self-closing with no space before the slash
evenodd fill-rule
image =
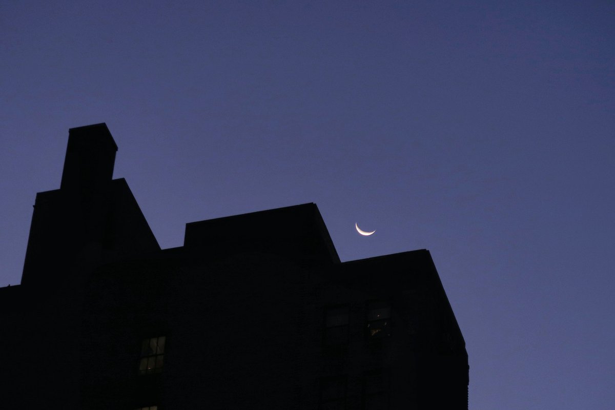
<path id="1" fill-rule="evenodd" d="M 427 250 L 340 262 L 313 203 L 189 223 L 161 250 L 105 124 L 69 130 L 0 288 L 3 409 L 467 409 Z"/>

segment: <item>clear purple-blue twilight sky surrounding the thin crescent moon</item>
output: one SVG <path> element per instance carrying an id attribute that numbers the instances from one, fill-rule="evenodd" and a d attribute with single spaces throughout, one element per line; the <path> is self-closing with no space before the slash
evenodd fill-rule
<path id="1" fill-rule="evenodd" d="M 614 2 L 4 1 L 0 286 L 97 122 L 163 248 L 315 202 L 343 261 L 431 250 L 470 409 L 612 408 Z"/>

